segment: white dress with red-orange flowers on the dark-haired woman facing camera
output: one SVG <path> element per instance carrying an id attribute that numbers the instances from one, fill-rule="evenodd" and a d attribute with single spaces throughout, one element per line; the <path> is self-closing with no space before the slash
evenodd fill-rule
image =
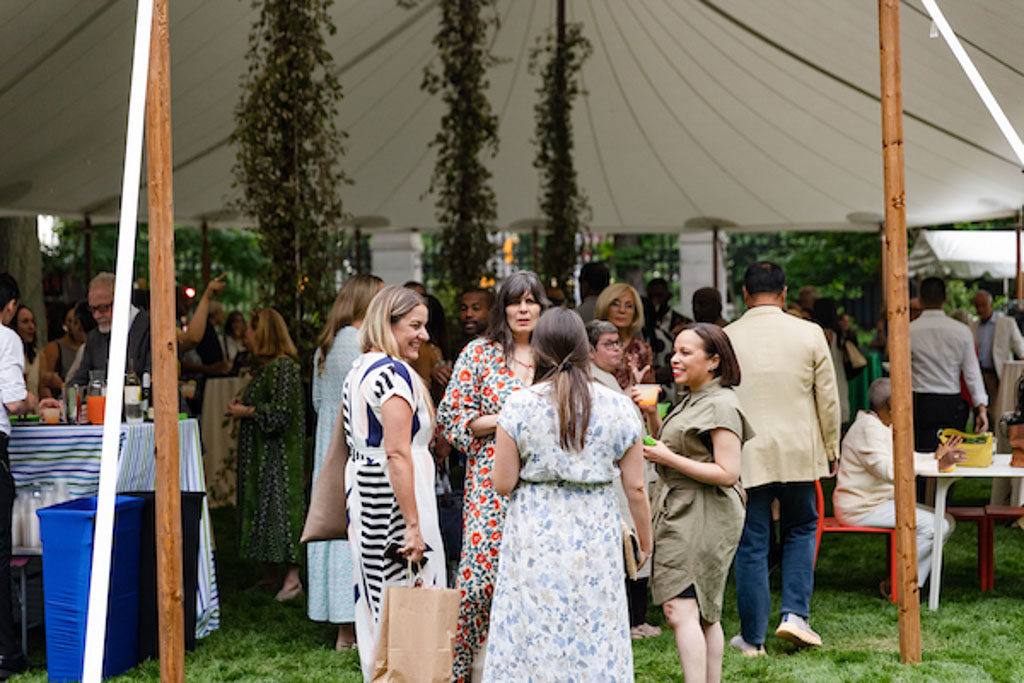
<path id="1" fill-rule="evenodd" d="M 501 413 L 512 394 L 523 388 L 508 366 L 501 347 L 485 339 L 471 341 L 452 370 L 437 421 L 444 436 L 466 454 L 463 496 L 462 556 L 456 588 L 462 591 L 455 641 L 452 679 L 469 680 L 473 657 L 487 639 L 490 600 L 498 575 L 498 550 L 508 499 L 495 493 L 490 468 L 495 462 L 495 435 L 473 436 L 469 423 L 483 415 Z"/>

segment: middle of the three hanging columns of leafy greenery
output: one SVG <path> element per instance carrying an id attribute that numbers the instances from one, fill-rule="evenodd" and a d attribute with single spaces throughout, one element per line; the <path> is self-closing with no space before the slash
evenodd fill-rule
<path id="1" fill-rule="evenodd" d="M 440 94 L 446 108 L 430 146 L 437 162 L 430 191 L 437 194 L 441 261 L 449 285 L 462 290 L 490 273 L 498 204 L 490 171 L 481 157 L 498 152 L 498 116 L 487 100 L 486 71 L 499 60 L 490 53 L 499 22 L 497 0 L 440 0 L 441 20 L 433 44 L 440 67 L 429 65 L 422 88 Z M 486 14 L 484 13 L 486 11 Z"/>

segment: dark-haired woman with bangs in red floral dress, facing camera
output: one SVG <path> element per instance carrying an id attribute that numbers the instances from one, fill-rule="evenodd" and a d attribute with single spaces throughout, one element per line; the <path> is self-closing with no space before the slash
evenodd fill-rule
<path id="1" fill-rule="evenodd" d="M 473 658 L 487 639 L 490 599 L 498 577 L 498 550 L 508 498 L 495 493 L 498 414 L 513 391 L 534 381 L 529 337 L 548 307 L 540 279 L 522 270 L 502 284 L 483 337 L 459 354 L 437 422 L 444 436 L 466 454 L 462 556 L 456 587 L 462 591 L 452 680 L 469 681 Z"/>

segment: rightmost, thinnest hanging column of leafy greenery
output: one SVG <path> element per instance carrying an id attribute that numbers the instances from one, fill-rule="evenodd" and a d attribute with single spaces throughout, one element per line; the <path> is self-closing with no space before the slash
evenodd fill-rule
<path id="1" fill-rule="evenodd" d="M 564 26 L 564 35 L 549 31 L 530 51 L 529 71 L 541 71 L 537 117 L 537 159 L 541 170 L 541 211 L 548 218 L 542 257 L 545 281 L 571 295 L 578 253 L 575 236 L 586 230 L 590 204 L 577 183 L 572 162 L 572 100 L 583 92 L 580 71 L 594 48 L 582 24 Z"/>

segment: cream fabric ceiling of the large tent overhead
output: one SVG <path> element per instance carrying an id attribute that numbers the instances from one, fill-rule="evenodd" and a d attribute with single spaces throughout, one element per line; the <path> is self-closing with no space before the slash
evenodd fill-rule
<path id="1" fill-rule="evenodd" d="M 944 2 L 1012 122 L 1024 124 L 1020 2 Z M 134 2 L 0 3 L 0 210 L 116 216 Z M 717 216 L 739 230 L 876 229 L 883 210 L 874 3 L 568 0 L 595 52 L 573 113 L 579 178 L 600 232 L 675 232 Z M 536 218 L 528 52 L 548 0 L 501 0 L 490 101 L 499 224 Z M 1011 151 L 918 0 L 902 3 L 907 222 L 1007 214 L 1024 204 Z M 436 0 L 337 0 L 329 37 L 348 132 L 351 214 L 429 229 L 427 147 L 441 104 L 419 89 Z M 171 3 L 176 219 L 230 223 L 226 143 L 254 10 Z M 973 45 L 973 46 L 972 46 Z M 1022 126 L 1024 127 L 1024 126 Z M 144 196 L 143 196 L 144 200 Z M 143 205 L 144 212 L 144 205 Z M 233 219 L 238 222 L 238 219 Z M 706 228 L 701 228 L 706 229 Z"/>

